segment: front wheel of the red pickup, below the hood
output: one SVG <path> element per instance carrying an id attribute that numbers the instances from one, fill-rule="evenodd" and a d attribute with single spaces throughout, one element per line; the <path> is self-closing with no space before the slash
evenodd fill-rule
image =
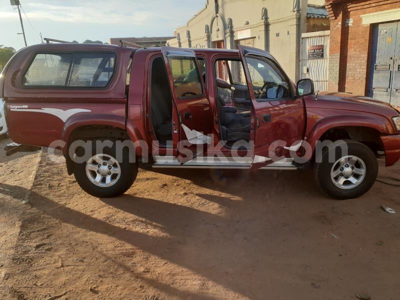
<path id="1" fill-rule="evenodd" d="M 342 150 L 345 148 L 346 153 Z M 377 173 L 375 154 L 363 143 L 353 140 L 335 143 L 322 153 L 321 162 L 314 163 L 314 178 L 319 188 L 326 195 L 340 200 L 366 193 L 375 182 Z"/>

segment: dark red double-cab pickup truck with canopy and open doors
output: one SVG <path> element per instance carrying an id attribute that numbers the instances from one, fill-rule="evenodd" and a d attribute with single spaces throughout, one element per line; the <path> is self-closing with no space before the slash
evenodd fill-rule
<path id="1" fill-rule="evenodd" d="M 374 183 L 377 157 L 386 166 L 400 158 L 389 104 L 315 94 L 312 80 L 294 84 L 251 47 L 33 45 L 3 69 L 0 98 L 12 140 L 60 148 L 68 174 L 98 197 L 126 191 L 138 165 L 310 165 L 323 192 L 354 198 Z"/>

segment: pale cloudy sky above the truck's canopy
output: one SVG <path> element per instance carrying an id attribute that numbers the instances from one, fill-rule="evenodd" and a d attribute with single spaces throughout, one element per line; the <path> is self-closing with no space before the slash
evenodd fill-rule
<path id="1" fill-rule="evenodd" d="M 205 0 L 20 0 L 28 45 L 43 37 L 109 42 L 110 37 L 173 36 Z M 30 20 L 30 23 L 28 19 Z M 24 46 L 18 10 L 0 0 L 0 44 Z"/>

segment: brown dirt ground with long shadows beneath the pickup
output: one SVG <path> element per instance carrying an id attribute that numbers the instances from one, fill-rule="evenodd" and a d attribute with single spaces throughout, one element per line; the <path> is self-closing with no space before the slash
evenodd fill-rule
<path id="1" fill-rule="evenodd" d="M 45 149 L 0 170 L 0 298 L 400 299 L 400 164 L 345 201 L 309 170 L 140 170 L 111 199 Z"/>

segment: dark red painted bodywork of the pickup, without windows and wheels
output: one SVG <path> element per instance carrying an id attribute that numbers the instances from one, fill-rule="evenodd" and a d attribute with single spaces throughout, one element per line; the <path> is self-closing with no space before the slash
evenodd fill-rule
<path id="1" fill-rule="evenodd" d="M 243 49 L 245 48 L 240 48 L 240 51 Z M 183 115 L 188 111 L 191 112 L 191 118 L 182 119 L 182 123 L 205 134 L 214 134 L 213 144 L 215 145 L 219 142 L 220 136 L 213 70 L 215 61 L 218 58 L 243 59 L 243 55 L 237 50 L 225 49 L 181 50 L 204 58 L 207 71 L 205 80 L 202 82 L 203 96 L 174 100 L 172 109 L 172 127 L 173 131 L 176 131 L 173 133 L 174 146 L 183 138 L 178 113 Z M 35 54 L 46 51 L 113 52 L 116 55 L 114 76 L 105 88 L 22 86 L 21 77 Z M 257 51 L 278 65 L 272 56 L 266 52 Z M 0 78 L 0 97 L 5 100 L 10 137 L 15 142 L 24 144 L 48 146 L 54 140 L 62 140 L 67 145 L 70 134 L 80 126 L 110 125 L 126 130 L 132 141 L 144 140 L 148 145 L 152 145 L 155 136 L 149 118 L 146 116 L 150 110 L 149 70 L 151 61 L 156 56 L 162 56 L 161 48 L 133 49 L 114 45 L 40 44 L 19 50 L 6 65 L 3 77 Z M 128 92 L 126 92 L 125 80 L 131 57 L 130 82 Z M 167 64 L 167 60 L 165 63 Z M 168 67 L 167 70 L 169 70 Z M 251 82 L 247 83 L 251 95 Z M 275 140 L 283 140 L 288 146 L 296 141 L 306 140 L 314 148 L 315 142 L 326 130 L 341 126 L 357 126 L 373 128 L 379 132 L 386 153 L 386 165 L 392 165 L 400 158 L 400 135 L 391 120 L 391 117 L 398 115 L 398 111 L 388 104 L 366 97 L 348 95 L 296 97 L 294 84 L 292 84 L 292 95 L 292 98 L 285 100 L 252 101 L 250 133 L 255 145 L 255 154 L 267 155 L 270 143 Z M 11 110 L 15 106 L 24 106 L 29 109 L 81 108 L 90 111 L 73 114 L 64 122 L 57 116 L 47 113 Z M 272 121 L 261 122 L 263 114 L 271 114 Z M 156 146 L 153 145 L 153 147 Z M 173 149 L 173 155 L 176 156 L 176 147 Z M 66 151 L 66 146 L 63 150 Z M 157 150 L 161 154 L 167 152 L 167 149 L 162 147 Z M 230 149 L 223 147 L 221 150 L 224 155 L 231 155 Z M 208 154 L 212 154 L 212 151 L 209 150 Z M 136 154 L 141 155 L 139 148 Z"/>

